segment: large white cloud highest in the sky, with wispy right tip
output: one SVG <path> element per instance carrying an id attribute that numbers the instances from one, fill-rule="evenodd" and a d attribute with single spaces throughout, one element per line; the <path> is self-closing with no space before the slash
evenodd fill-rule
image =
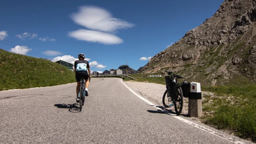
<path id="1" fill-rule="evenodd" d="M 118 29 L 131 28 L 133 23 L 112 17 L 112 14 L 106 9 L 96 6 L 79 7 L 77 13 L 71 14 L 71 19 L 79 25 L 92 30 L 113 32 Z"/>

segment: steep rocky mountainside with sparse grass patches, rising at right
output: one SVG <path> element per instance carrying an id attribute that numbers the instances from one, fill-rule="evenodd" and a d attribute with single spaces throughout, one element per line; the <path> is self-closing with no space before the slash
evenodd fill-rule
<path id="1" fill-rule="evenodd" d="M 256 81 L 255 21 L 255 0 L 225 0 L 211 18 L 153 56 L 138 72 L 174 71 L 206 85 Z"/>

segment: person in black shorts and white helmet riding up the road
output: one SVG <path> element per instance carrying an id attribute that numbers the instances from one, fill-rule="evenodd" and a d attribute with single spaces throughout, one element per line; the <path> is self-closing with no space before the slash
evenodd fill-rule
<path id="1" fill-rule="evenodd" d="M 84 78 L 85 80 L 85 96 L 88 96 L 88 86 L 89 86 L 89 77 L 91 77 L 91 71 L 89 62 L 87 60 L 84 60 L 85 55 L 79 54 L 78 59 L 75 61 L 75 73 L 76 73 L 76 95 L 78 96 L 78 93 L 80 91 L 80 85 L 81 85 L 81 78 Z M 76 99 L 76 102 L 79 102 L 79 99 Z"/>

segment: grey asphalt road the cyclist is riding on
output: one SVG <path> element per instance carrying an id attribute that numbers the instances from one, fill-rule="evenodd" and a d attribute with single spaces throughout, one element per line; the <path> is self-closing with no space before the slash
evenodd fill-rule
<path id="1" fill-rule="evenodd" d="M 232 143 L 157 111 L 120 78 L 92 78 L 81 112 L 75 87 L 0 91 L 0 143 Z"/>

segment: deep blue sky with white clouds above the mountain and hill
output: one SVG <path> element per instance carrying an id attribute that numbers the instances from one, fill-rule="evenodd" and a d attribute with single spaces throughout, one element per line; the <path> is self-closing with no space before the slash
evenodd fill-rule
<path id="1" fill-rule="evenodd" d="M 223 1 L 2 1 L 0 48 L 68 62 L 84 53 L 92 71 L 117 69 L 126 61 L 137 70 L 210 18 Z"/>

